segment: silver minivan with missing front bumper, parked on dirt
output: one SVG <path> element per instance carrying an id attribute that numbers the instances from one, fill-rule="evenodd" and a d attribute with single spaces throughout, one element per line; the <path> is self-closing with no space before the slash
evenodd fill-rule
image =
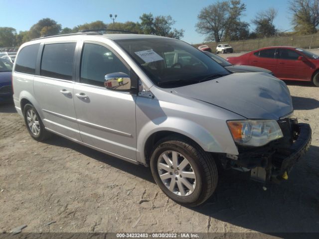
<path id="1" fill-rule="evenodd" d="M 42 37 L 19 48 L 12 76 L 15 108 L 34 139 L 55 133 L 150 166 L 161 190 L 185 206 L 212 195 L 217 166 L 264 185 L 288 179 L 311 143 L 284 82 L 231 73 L 176 39 Z"/>

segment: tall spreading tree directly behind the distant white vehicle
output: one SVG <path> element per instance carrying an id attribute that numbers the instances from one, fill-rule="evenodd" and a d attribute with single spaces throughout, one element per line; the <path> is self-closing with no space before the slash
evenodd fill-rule
<path id="1" fill-rule="evenodd" d="M 228 22 L 228 9 L 227 1 L 218 1 L 201 9 L 197 16 L 196 31 L 207 35 L 207 41 L 220 42 Z"/>

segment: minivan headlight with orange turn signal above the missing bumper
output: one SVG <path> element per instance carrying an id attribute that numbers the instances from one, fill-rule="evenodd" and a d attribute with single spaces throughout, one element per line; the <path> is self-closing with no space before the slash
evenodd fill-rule
<path id="1" fill-rule="evenodd" d="M 246 146 L 263 146 L 284 136 L 276 120 L 231 120 L 227 124 L 235 142 Z"/>

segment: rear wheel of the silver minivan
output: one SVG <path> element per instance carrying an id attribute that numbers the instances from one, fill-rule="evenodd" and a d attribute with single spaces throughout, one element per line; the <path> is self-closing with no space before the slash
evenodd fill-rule
<path id="1" fill-rule="evenodd" d="M 32 138 L 37 141 L 43 141 L 51 136 L 51 133 L 46 131 L 39 114 L 31 104 L 24 106 L 23 116 L 25 126 Z"/>

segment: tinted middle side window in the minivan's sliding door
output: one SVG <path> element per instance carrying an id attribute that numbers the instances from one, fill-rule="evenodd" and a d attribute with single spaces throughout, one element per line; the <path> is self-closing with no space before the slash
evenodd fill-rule
<path id="1" fill-rule="evenodd" d="M 44 46 L 41 76 L 72 80 L 76 43 L 54 43 Z"/>

